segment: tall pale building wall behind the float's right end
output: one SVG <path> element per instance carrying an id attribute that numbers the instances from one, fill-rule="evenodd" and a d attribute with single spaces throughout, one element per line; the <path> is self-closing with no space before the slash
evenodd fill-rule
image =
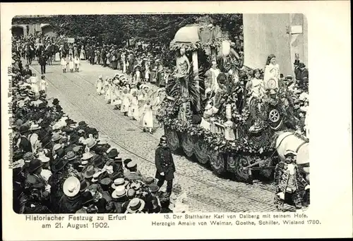
<path id="1" fill-rule="evenodd" d="M 244 14 L 244 63 L 264 68 L 267 57 L 275 54 L 283 75 L 294 75 L 295 53 L 308 63 L 308 23 L 301 13 Z"/>

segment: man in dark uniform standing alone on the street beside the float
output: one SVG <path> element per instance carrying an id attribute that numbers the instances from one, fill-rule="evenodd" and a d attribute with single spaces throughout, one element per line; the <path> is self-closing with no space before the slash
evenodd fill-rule
<path id="1" fill-rule="evenodd" d="M 172 151 L 167 147 L 167 137 L 160 138 L 160 144 L 155 150 L 155 166 L 157 168 L 155 178 L 158 179 L 158 187 L 162 187 L 164 180 L 167 180 L 167 194 L 172 194 L 175 165 Z"/>

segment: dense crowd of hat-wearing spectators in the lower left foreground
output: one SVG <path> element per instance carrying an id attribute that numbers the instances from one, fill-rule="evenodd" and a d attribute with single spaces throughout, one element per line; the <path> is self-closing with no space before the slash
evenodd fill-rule
<path id="1" fill-rule="evenodd" d="M 20 214 L 171 212 L 170 194 L 109 138 L 68 117 L 13 56 L 13 209 Z M 15 61 L 15 59 L 17 59 Z M 45 81 L 43 77 L 42 80 Z M 178 201 L 181 202 L 181 201 Z M 176 204 L 177 205 L 177 204 Z M 177 205 L 178 206 L 178 205 Z"/>

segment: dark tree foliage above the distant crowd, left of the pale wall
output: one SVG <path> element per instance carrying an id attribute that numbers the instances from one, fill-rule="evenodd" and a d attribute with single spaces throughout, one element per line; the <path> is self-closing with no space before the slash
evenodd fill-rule
<path id="1" fill-rule="evenodd" d="M 166 45 L 177 30 L 192 23 L 208 22 L 229 31 L 231 39 L 242 35 L 241 14 L 146 14 L 146 15 L 76 15 L 53 16 L 48 19 L 59 35 L 68 37 L 100 37 L 121 44 L 138 39 Z"/>

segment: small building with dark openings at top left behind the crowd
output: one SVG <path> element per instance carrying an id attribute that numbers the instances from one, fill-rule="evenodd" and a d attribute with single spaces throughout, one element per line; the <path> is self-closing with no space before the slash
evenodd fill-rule
<path id="1" fill-rule="evenodd" d="M 47 23 L 48 18 L 50 16 L 15 16 L 12 20 L 12 35 L 20 37 L 41 33 L 44 36 L 55 36 L 56 33 L 53 31 L 52 26 Z"/>

